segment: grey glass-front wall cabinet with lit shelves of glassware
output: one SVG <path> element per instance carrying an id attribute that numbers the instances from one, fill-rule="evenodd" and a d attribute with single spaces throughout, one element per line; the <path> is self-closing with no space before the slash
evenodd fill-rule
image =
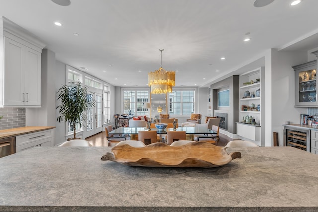
<path id="1" fill-rule="evenodd" d="M 316 60 L 293 66 L 293 69 L 295 71 L 295 107 L 318 107 Z"/>

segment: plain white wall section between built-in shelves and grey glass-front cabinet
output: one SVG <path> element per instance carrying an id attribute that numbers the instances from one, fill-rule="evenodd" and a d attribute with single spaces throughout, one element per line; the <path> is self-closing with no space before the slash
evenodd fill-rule
<path id="1" fill-rule="evenodd" d="M 295 72 L 292 66 L 305 63 L 306 52 L 271 49 L 265 58 L 265 145 L 272 146 L 273 132 L 278 132 L 283 146 L 283 124 L 299 124 L 300 113 L 307 108 L 295 108 Z"/>

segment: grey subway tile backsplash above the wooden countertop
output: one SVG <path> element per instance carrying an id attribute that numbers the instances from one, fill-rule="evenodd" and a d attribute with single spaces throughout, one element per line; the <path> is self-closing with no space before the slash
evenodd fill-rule
<path id="1" fill-rule="evenodd" d="M 25 108 L 0 108 L 0 130 L 25 127 Z"/>

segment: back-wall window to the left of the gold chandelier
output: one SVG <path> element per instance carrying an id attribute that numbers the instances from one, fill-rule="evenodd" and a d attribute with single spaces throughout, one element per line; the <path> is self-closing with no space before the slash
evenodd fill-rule
<path id="1" fill-rule="evenodd" d="M 134 115 L 147 115 L 147 108 L 144 108 L 144 103 L 148 102 L 148 90 L 128 91 L 123 92 L 123 109 L 124 113 Z"/>

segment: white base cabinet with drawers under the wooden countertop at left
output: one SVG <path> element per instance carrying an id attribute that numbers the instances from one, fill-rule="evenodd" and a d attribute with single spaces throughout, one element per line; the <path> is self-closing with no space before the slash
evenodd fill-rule
<path id="1" fill-rule="evenodd" d="M 54 129 L 38 131 L 16 136 L 16 152 L 35 146 L 53 146 Z"/>

